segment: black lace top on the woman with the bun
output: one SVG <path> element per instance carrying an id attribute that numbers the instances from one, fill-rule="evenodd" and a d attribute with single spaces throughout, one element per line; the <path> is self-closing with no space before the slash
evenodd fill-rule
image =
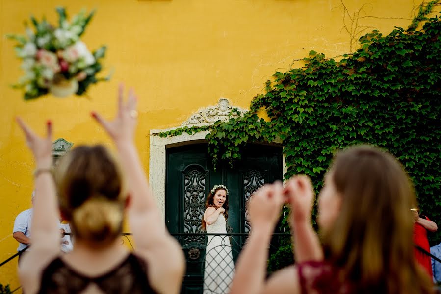
<path id="1" fill-rule="evenodd" d="M 147 279 L 147 264 L 134 254 L 129 254 L 115 269 L 94 278 L 73 270 L 57 257 L 43 270 L 38 293 L 81 293 L 91 284 L 103 293 L 156 293 Z"/>

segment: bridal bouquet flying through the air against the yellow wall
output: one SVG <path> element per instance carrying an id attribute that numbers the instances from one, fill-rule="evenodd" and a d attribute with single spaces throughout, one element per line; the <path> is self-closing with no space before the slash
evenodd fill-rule
<path id="1" fill-rule="evenodd" d="M 25 74 L 13 87 L 24 90 L 25 100 L 47 93 L 56 97 L 82 95 L 91 84 L 109 79 L 97 77 L 106 47 L 91 52 L 80 40 L 94 12 L 81 11 L 69 21 L 64 8 L 56 11 L 58 27 L 44 18 L 38 22 L 31 17 L 33 28 L 26 25 L 26 35 L 7 35 L 17 42 L 15 51 L 23 60 Z"/>

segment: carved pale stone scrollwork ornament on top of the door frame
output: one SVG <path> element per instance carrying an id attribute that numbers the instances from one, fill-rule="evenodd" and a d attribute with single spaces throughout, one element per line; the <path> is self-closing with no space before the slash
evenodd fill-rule
<path id="1" fill-rule="evenodd" d="M 208 106 L 192 114 L 182 125 L 204 125 L 212 124 L 216 121 L 228 121 L 232 118 L 242 117 L 248 110 L 234 107 L 226 98 L 220 98 L 215 106 Z"/>

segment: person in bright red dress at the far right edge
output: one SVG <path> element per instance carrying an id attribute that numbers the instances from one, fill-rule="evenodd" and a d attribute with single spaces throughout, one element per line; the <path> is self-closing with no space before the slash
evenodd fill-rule
<path id="1" fill-rule="evenodd" d="M 438 226 L 435 222 L 431 221 L 427 216 L 418 214 L 418 210 L 412 209 L 414 214 L 414 243 L 425 251 L 430 253 L 429 239 L 427 239 L 427 231 L 436 232 Z M 415 258 L 418 263 L 423 266 L 432 278 L 432 261 L 429 255 L 422 252 L 415 247 Z"/>

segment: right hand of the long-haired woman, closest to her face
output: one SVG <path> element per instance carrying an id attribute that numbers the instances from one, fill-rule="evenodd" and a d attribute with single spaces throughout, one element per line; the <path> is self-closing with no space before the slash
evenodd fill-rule
<path id="1" fill-rule="evenodd" d="M 307 221 L 311 218 L 314 202 L 314 189 L 311 179 L 306 175 L 296 175 L 285 185 L 285 196 L 291 204 L 292 220 Z"/>

